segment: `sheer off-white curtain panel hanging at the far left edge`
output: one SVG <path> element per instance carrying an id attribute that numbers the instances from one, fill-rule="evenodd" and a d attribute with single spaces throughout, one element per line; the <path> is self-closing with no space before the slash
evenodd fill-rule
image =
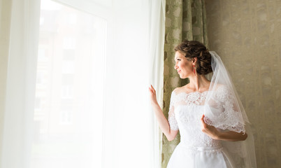
<path id="1" fill-rule="evenodd" d="M 1 8 L 10 4 L 3 12 L 10 13 L 10 27 L 3 31 L 8 52 L 1 55 L 7 59 L 6 80 L 3 79 L 3 132 L 1 143 L 1 167 L 28 167 L 32 116 L 34 109 L 34 87 L 36 80 L 36 52 L 40 1 L 1 1 Z M 2 33 L 2 29 L 1 29 Z M 12 122 L 13 121 L 13 122 Z M 17 162 L 15 162 L 17 158 Z"/>

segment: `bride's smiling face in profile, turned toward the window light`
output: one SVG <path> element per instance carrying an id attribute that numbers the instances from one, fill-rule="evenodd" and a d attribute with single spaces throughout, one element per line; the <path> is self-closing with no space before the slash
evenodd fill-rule
<path id="1" fill-rule="evenodd" d="M 193 73 L 192 61 L 189 61 L 184 55 L 180 52 L 175 52 L 175 70 L 178 71 L 180 78 L 188 78 Z"/>

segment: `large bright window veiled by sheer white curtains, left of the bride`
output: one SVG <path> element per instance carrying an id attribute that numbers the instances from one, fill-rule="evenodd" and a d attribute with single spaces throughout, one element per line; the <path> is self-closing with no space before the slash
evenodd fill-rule
<path id="1" fill-rule="evenodd" d="M 3 167 L 159 167 L 147 87 L 162 83 L 161 2 L 11 3 Z"/>

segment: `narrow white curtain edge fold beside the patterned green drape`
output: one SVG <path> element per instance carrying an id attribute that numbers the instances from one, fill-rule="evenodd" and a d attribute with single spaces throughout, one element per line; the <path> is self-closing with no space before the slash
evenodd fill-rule
<path id="1" fill-rule="evenodd" d="M 164 66 L 164 33 L 165 33 L 165 0 L 150 1 L 150 44 L 152 56 L 150 64 L 150 83 L 157 92 L 157 101 L 163 106 L 163 66 Z M 154 127 L 154 167 L 161 167 L 162 132 L 156 118 Z"/>

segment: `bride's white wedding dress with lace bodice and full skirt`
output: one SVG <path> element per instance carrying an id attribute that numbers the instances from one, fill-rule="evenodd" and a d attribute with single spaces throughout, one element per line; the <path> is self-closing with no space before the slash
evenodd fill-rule
<path id="1" fill-rule="evenodd" d="M 168 122 L 171 130 L 180 131 L 180 144 L 173 151 L 168 168 L 234 168 L 222 141 L 211 139 L 201 131 L 208 92 L 172 92 Z M 216 102 L 225 102 L 226 87 L 219 86 L 216 92 Z"/>

